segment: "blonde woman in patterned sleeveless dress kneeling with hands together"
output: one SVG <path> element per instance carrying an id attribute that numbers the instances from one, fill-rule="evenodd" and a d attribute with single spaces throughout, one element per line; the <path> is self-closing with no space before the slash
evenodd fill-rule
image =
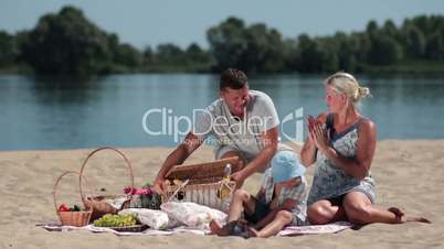
<path id="1" fill-rule="evenodd" d="M 329 112 L 309 118 L 309 136 L 300 152 L 305 166 L 316 162 L 307 201 L 310 224 L 429 223 L 425 218 L 409 217 L 397 207 L 382 209 L 373 205 L 370 166 L 377 130 L 357 108 L 370 94 L 369 88 L 360 87 L 350 74 L 336 73 L 325 80 L 325 90 Z"/>

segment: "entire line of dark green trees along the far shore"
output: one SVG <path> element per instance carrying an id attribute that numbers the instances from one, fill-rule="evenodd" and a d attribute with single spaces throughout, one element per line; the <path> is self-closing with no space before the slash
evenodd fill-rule
<path id="1" fill-rule="evenodd" d="M 0 31 L 0 71 L 77 76 L 220 72 L 228 67 L 260 74 L 426 72 L 434 66 L 444 71 L 442 15 L 405 19 L 400 26 L 391 20 L 382 25 L 370 21 L 361 32 L 297 37 L 283 37 L 264 23 L 246 25 L 231 17 L 211 26 L 207 39 L 208 50 L 197 43 L 184 50 L 167 43 L 140 51 L 95 25 L 80 9 L 64 7 L 59 13 L 41 17 L 32 30 Z"/>

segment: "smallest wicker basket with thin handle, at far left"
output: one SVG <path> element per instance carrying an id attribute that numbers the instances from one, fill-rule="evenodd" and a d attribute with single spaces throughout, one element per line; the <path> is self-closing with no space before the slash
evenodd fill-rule
<path id="1" fill-rule="evenodd" d="M 57 206 L 59 206 L 57 198 L 56 198 L 57 186 L 59 186 L 60 181 L 67 174 L 81 175 L 78 172 L 75 172 L 75 171 L 66 171 L 62 175 L 60 175 L 59 178 L 55 181 L 54 188 L 53 188 L 55 213 L 57 214 L 59 219 L 63 226 L 83 227 L 83 226 L 86 226 L 89 224 L 91 215 L 93 213 L 91 207 L 89 207 L 89 210 L 78 210 L 78 212 L 61 212 L 57 208 Z M 82 177 L 82 175 L 81 175 L 81 177 Z"/>

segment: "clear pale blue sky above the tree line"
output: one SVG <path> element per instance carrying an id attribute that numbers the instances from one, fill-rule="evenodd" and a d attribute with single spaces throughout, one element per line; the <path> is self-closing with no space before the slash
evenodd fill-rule
<path id="1" fill-rule="evenodd" d="M 399 25 L 419 14 L 444 14 L 444 0 L 0 0 L 0 30 L 33 29 L 41 15 L 67 4 L 139 48 L 193 42 L 208 47 L 207 30 L 232 15 L 296 37 L 363 31 L 370 20 Z"/>

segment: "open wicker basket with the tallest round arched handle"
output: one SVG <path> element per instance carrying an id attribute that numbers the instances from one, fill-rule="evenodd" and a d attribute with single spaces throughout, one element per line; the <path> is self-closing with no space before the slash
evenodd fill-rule
<path id="1" fill-rule="evenodd" d="M 117 214 L 119 210 L 121 210 L 124 208 L 128 208 L 129 203 L 130 203 L 130 201 L 133 198 L 131 195 L 124 195 L 124 194 L 86 196 L 85 193 L 83 192 L 83 186 L 82 186 L 82 178 L 83 177 L 82 177 L 82 175 L 84 174 L 85 166 L 86 166 L 88 160 L 94 154 L 96 154 L 97 152 L 104 151 L 104 150 L 114 151 L 125 160 L 125 163 L 126 163 L 126 165 L 128 167 L 128 171 L 129 171 L 130 186 L 134 187 L 133 166 L 131 166 L 131 163 L 125 156 L 124 153 L 121 153 L 119 150 L 117 150 L 115 148 L 110 148 L 110 147 L 99 148 L 99 149 L 96 149 L 93 152 L 91 152 L 88 154 L 88 156 L 86 156 L 86 159 L 83 162 L 82 167 L 81 167 L 80 190 L 81 190 L 82 201 L 83 201 L 85 207 L 86 208 L 89 208 L 89 207 L 93 208 L 93 214 L 92 214 L 92 217 L 91 217 L 92 220 L 98 219 L 98 218 L 101 218 L 102 216 L 104 216 L 106 214 Z M 106 199 L 116 199 L 116 198 L 121 198 L 121 197 L 126 198 L 126 201 L 124 202 L 124 204 L 121 205 L 121 208 L 119 208 L 119 209 L 115 208 L 114 206 L 112 206 L 108 203 L 106 203 Z"/>

